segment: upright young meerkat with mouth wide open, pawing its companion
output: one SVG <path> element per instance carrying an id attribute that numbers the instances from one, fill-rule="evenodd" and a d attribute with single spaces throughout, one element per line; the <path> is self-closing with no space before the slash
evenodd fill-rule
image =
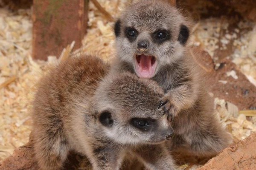
<path id="1" fill-rule="evenodd" d="M 201 70 L 188 52 L 190 24 L 163 0 L 141 0 L 116 20 L 116 59 L 111 73 L 129 71 L 163 88 L 159 108 L 172 120 L 172 150 L 215 155 L 232 139 L 213 113 Z"/>

